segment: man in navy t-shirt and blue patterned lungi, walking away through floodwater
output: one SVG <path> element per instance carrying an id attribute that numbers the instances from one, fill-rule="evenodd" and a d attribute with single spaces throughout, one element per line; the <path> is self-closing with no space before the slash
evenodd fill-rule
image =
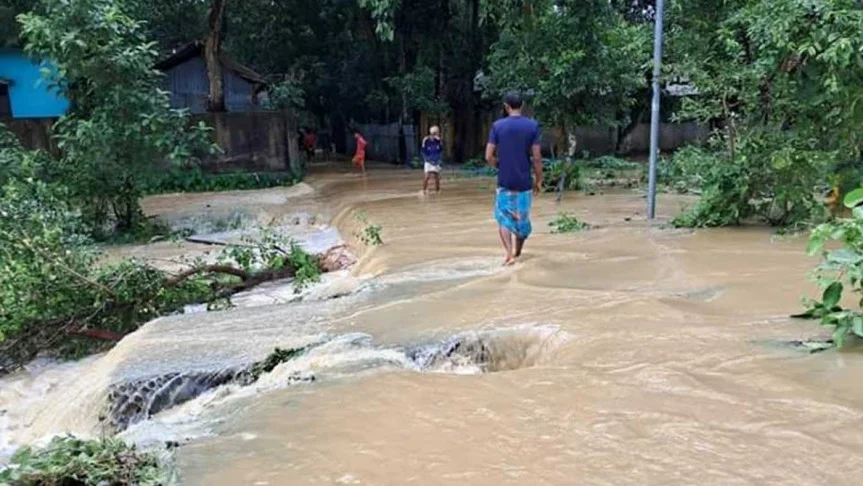
<path id="1" fill-rule="evenodd" d="M 506 251 L 504 265 L 512 265 L 521 256 L 524 242 L 530 236 L 531 189 L 533 194 L 539 195 L 542 153 L 539 124 L 522 116 L 521 94 L 510 91 L 504 96 L 503 104 L 507 116 L 492 125 L 485 147 L 485 160 L 498 169 L 494 218 Z"/>

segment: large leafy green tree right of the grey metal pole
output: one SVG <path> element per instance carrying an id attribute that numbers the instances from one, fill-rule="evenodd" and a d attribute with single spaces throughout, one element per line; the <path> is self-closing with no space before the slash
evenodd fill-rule
<path id="1" fill-rule="evenodd" d="M 863 9 L 853 0 L 714 3 L 686 0 L 670 12 L 669 70 L 699 93 L 680 116 L 710 123 L 721 147 L 704 197 L 678 223 L 812 219 L 823 213 L 816 188 L 861 156 Z"/>

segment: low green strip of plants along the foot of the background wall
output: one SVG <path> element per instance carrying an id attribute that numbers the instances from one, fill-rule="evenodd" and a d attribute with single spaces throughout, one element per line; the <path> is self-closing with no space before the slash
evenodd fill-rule
<path id="1" fill-rule="evenodd" d="M 143 185 L 144 194 L 218 192 L 291 186 L 293 175 L 281 172 L 224 172 L 207 174 L 197 167 L 174 168 L 153 174 Z"/>

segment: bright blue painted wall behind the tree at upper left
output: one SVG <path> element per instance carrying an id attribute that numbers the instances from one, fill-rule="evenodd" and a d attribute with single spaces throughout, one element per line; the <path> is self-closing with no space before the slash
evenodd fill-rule
<path id="1" fill-rule="evenodd" d="M 20 50 L 0 50 L 0 78 L 12 81 L 12 118 L 54 118 L 69 109 L 68 100 L 48 89 L 40 63 Z"/>

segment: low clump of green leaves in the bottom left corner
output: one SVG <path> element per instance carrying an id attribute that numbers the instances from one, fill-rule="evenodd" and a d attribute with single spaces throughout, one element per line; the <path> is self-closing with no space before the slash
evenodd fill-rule
<path id="1" fill-rule="evenodd" d="M 161 486 L 168 481 L 154 455 L 110 438 L 57 437 L 43 449 L 20 449 L 0 471 L 0 484 L 15 486 Z"/>

